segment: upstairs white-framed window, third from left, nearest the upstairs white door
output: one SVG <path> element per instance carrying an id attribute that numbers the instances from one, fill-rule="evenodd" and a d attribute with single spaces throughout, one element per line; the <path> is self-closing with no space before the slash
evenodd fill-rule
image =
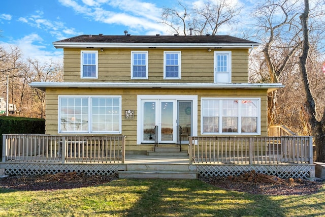
<path id="1" fill-rule="evenodd" d="M 164 79 L 181 78 L 181 51 L 164 51 Z"/>

